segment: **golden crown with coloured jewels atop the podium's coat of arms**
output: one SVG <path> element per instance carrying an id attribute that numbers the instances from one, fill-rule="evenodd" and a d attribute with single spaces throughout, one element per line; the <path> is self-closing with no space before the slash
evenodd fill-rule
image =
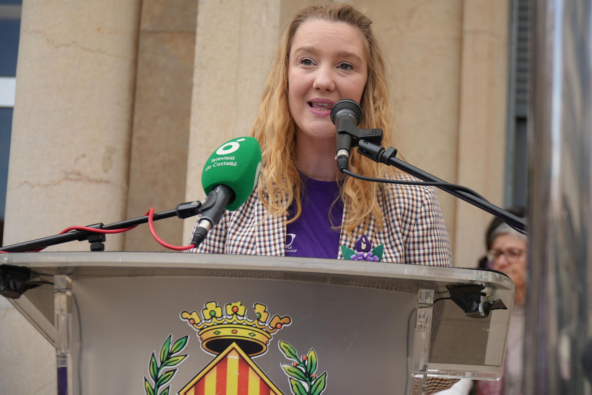
<path id="1" fill-rule="evenodd" d="M 205 351 L 217 355 L 232 343 L 237 343 L 249 356 L 267 351 L 272 335 L 291 323 L 288 316 L 274 316 L 269 320 L 267 306 L 253 304 L 257 318 L 247 317 L 246 307 L 240 302 L 228 303 L 222 307 L 211 301 L 204 304 L 201 316 L 197 311 L 183 311 L 181 318 L 197 331 Z"/>

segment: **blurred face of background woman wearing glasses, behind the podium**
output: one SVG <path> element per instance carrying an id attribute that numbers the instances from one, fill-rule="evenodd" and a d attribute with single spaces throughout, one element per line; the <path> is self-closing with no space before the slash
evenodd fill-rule
<path id="1" fill-rule="evenodd" d="M 511 234 L 501 234 L 491 243 L 495 259 L 493 268 L 507 274 L 516 288 L 526 282 L 526 242 Z"/>

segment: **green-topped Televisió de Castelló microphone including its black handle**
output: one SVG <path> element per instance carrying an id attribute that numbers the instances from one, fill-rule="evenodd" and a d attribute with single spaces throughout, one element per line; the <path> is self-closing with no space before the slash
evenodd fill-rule
<path id="1" fill-rule="evenodd" d="M 201 186 L 208 195 L 191 243 L 197 247 L 220 221 L 224 210 L 234 211 L 249 199 L 259 182 L 261 146 L 256 138 L 238 137 L 225 142 L 205 161 Z"/>

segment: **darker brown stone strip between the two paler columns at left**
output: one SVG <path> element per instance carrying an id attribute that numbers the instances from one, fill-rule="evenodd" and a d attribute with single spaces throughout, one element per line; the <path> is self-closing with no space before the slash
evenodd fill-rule
<path id="1" fill-rule="evenodd" d="M 127 218 L 185 201 L 197 8 L 197 0 L 142 2 Z M 156 221 L 155 229 L 168 243 L 187 244 L 183 222 Z M 126 233 L 125 250 L 170 251 L 147 225 Z"/>

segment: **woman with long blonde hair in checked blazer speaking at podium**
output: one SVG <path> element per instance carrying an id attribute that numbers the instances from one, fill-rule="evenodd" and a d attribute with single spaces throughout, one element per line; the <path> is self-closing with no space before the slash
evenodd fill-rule
<path id="1" fill-rule="evenodd" d="M 371 23 L 343 2 L 295 15 L 253 125 L 263 154 L 258 189 L 193 251 L 450 265 L 432 187 L 343 179 L 337 170 L 329 113 L 342 98 L 361 104 L 361 128 L 382 128 L 383 145 L 394 145 L 385 56 Z M 355 150 L 350 170 L 413 180 Z"/>

